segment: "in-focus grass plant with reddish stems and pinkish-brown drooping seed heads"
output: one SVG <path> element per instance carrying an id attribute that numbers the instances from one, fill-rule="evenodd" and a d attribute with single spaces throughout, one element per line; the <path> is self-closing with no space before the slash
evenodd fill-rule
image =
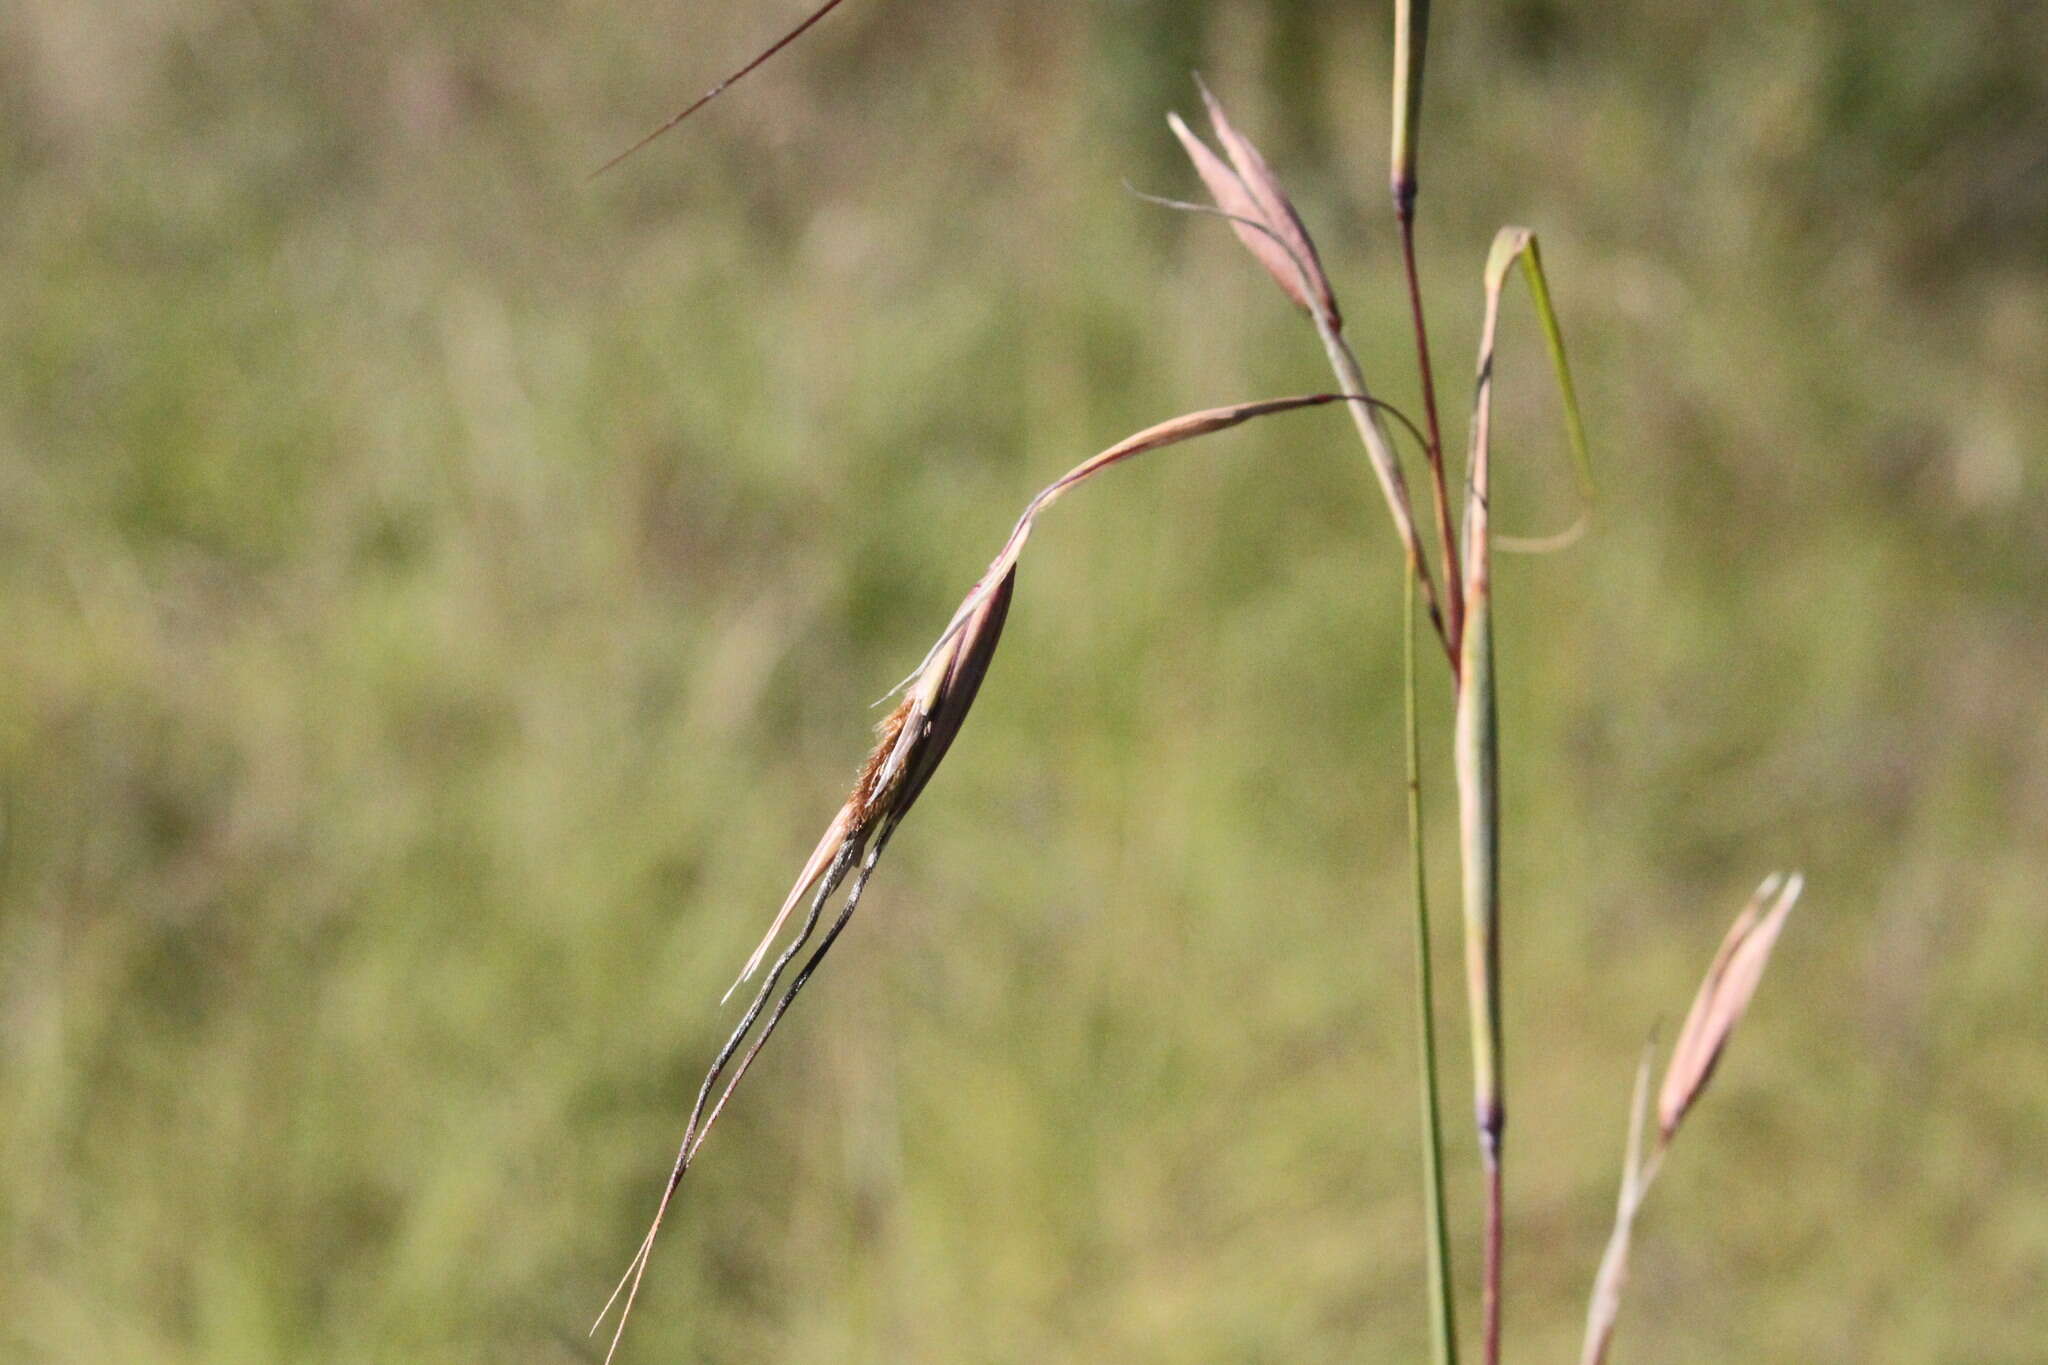
<path id="1" fill-rule="evenodd" d="M 756 53 L 705 96 L 684 106 L 666 123 L 633 143 L 602 170 L 618 166 L 625 158 L 643 149 L 662 133 L 674 129 L 684 119 L 700 111 L 715 96 L 727 90 L 750 72 L 758 70 L 772 55 L 788 47 L 809 31 L 840 0 L 811 10 L 795 29 L 786 31 L 770 47 Z M 1556 389 L 1565 409 L 1565 428 L 1571 448 L 1573 469 L 1585 497 L 1579 522 L 1548 542 L 1524 548 L 1563 548 L 1571 544 L 1587 526 L 1591 514 L 1591 456 L 1587 450 L 1585 424 L 1579 413 L 1577 389 L 1565 352 L 1563 329 L 1550 301 L 1550 287 L 1544 276 L 1542 254 L 1536 233 L 1526 227 L 1503 227 L 1493 239 L 1483 270 L 1483 323 L 1479 336 L 1479 362 L 1473 381 L 1473 415 L 1468 434 L 1468 454 L 1462 477 L 1462 516 L 1456 526 L 1450 510 L 1450 487 L 1444 460 L 1444 436 L 1436 397 L 1436 366 L 1430 354 L 1430 327 L 1423 307 L 1421 280 L 1415 246 L 1415 207 L 1419 196 L 1419 123 L 1423 92 L 1423 61 L 1427 51 L 1430 4 L 1427 0 L 1397 0 L 1395 8 L 1395 76 L 1393 76 L 1393 151 L 1389 184 L 1393 190 L 1395 219 L 1401 235 L 1403 278 L 1413 321 L 1413 358 L 1417 383 L 1425 407 L 1425 428 L 1401 413 L 1397 407 L 1376 399 L 1366 383 L 1358 354 L 1343 332 L 1343 313 L 1337 305 L 1335 289 L 1323 268 L 1321 252 L 1315 246 L 1303 215 L 1282 188 L 1266 156 L 1229 119 L 1223 104 L 1200 84 L 1206 106 L 1210 135 L 1221 153 L 1198 137 L 1180 115 L 1169 115 L 1167 125 L 1188 153 L 1196 174 L 1206 186 L 1214 213 L 1223 217 L 1251 258 L 1272 276 L 1280 291 L 1311 319 L 1331 372 L 1337 379 L 1337 393 L 1323 393 L 1294 399 L 1270 399 L 1188 413 L 1147 428 L 1094 458 L 1077 465 L 1063 479 L 1047 485 L 1018 518 L 1010 540 L 975 583 L 967 600 L 958 606 L 940 639 L 926 653 L 920 667 L 899 684 L 901 704 L 879 726 L 879 743 L 854 782 L 846 804 L 827 825 L 803 872 L 797 876 L 788 898 L 768 927 L 766 937 L 754 950 L 739 982 L 748 982 L 760 964 L 770 956 L 784 925 L 797 907 L 809 896 L 807 913 L 797 931 L 786 939 L 774 958 L 766 978 L 758 986 L 743 1017 L 719 1050 L 698 1089 L 696 1105 L 690 1111 L 676 1164 L 662 1191 L 662 1201 L 647 1228 L 625 1277 L 606 1302 L 596 1330 L 608 1316 L 612 1304 L 621 1302 L 618 1324 L 612 1332 L 606 1361 L 618 1351 L 627 1318 L 639 1293 L 647 1261 L 653 1250 L 662 1220 L 676 1195 L 676 1189 L 696 1158 L 727 1099 L 745 1076 L 762 1046 L 774 1033 L 797 995 L 809 982 L 823 956 L 838 941 L 840 931 L 852 919 L 854 909 L 866 888 L 883 847 L 895 833 L 897 823 L 909 804 L 924 792 L 940 757 L 952 745 L 967 718 L 987 673 L 989 659 L 1008 618 L 1016 569 L 1024 544 L 1036 524 L 1038 514 L 1067 489 L 1083 483 L 1102 469 L 1133 454 L 1171 446 L 1192 436 L 1204 436 L 1296 407 L 1346 401 L 1354 428 L 1366 454 L 1366 463 L 1378 483 L 1386 512 L 1395 526 L 1397 542 L 1403 551 L 1403 591 L 1407 600 L 1405 647 L 1403 647 L 1403 716 L 1405 716 L 1405 759 L 1407 759 L 1407 800 L 1409 800 L 1409 855 L 1413 874 L 1415 943 L 1417 943 L 1417 1011 L 1421 1021 L 1421 1126 L 1423 1126 L 1423 1207 L 1425 1207 L 1425 1279 L 1430 1306 L 1430 1338 L 1434 1359 L 1440 1365 L 1456 1361 L 1456 1279 L 1450 1259 L 1450 1232 L 1446 1216 L 1442 1124 L 1436 1087 L 1436 1033 L 1434 1033 L 1434 990 L 1432 990 L 1432 950 L 1427 911 L 1427 860 L 1423 843 L 1423 784 L 1419 757 L 1417 720 L 1417 665 L 1415 665 L 1415 622 L 1417 600 L 1427 612 L 1430 624 L 1444 657 L 1450 665 L 1450 686 L 1454 694 L 1452 712 L 1452 755 L 1458 794 L 1458 835 L 1460 835 L 1460 882 L 1464 902 L 1464 993 L 1470 1019 L 1473 1052 L 1473 1115 L 1477 1126 L 1477 1146 L 1483 1183 L 1483 1263 L 1481 1263 L 1481 1359 L 1483 1365 L 1499 1365 L 1503 1349 L 1501 1287 L 1505 1265 L 1505 1132 L 1507 1132 L 1507 1085 L 1505 1085 L 1505 1009 L 1501 982 L 1501 778 L 1499 778 L 1499 702 L 1497 702 L 1497 659 L 1495 659 L 1495 614 L 1493 614 L 1493 555 L 1499 548 L 1493 532 L 1493 391 L 1495 362 L 1501 323 L 1501 301 L 1509 274 L 1520 264 L 1528 282 L 1530 299 L 1542 327 L 1544 344 L 1556 379 Z M 1149 199 L 1149 196 L 1147 196 Z M 1155 201 L 1182 209 L 1200 209 L 1178 201 Z M 1386 415 L 1393 413 L 1401 426 L 1415 436 L 1427 471 L 1427 489 L 1434 508 L 1434 530 L 1438 540 L 1438 563 L 1432 569 L 1430 553 L 1423 544 L 1419 514 L 1409 493 L 1409 479 L 1403 473 Z M 1442 587 L 1438 587 L 1442 583 Z M 850 878 L 850 880 L 848 880 Z M 815 935 L 823 907 L 846 882 L 846 898 L 819 945 L 791 978 L 786 990 L 776 997 L 780 980 L 797 956 Z M 1628 1152 L 1624 1156 L 1620 1214 L 1608 1252 L 1595 1277 L 1593 1297 L 1587 1314 L 1585 1365 L 1599 1365 L 1606 1359 L 1614 1322 L 1620 1312 L 1620 1291 L 1626 1279 L 1628 1244 L 1634 1216 L 1642 1195 L 1655 1181 L 1663 1154 L 1677 1132 L 1677 1124 L 1704 1091 L 1708 1076 L 1726 1046 L 1729 1033 L 1741 1019 L 1749 997 L 1761 978 L 1763 966 L 1778 939 L 1784 917 L 1798 898 L 1800 878 L 1774 876 L 1759 890 L 1757 900 L 1737 919 L 1720 956 L 1714 960 L 1700 997 L 1686 1027 L 1679 1031 L 1677 1048 L 1659 1095 L 1659 1144 L 1649 1158 L 1640 1156 L 1642 1103 L 1649 1058 L 1636 1076 L 1636 1099 L 1630 1119 Z M 1769 902 L 1769 911 L 1763 905 Z M 770 1001 L 774 1007 L 768 1009 Z M 768 1009 L 766 1019 L 762 1011 Z M 756 1031 L 756 1023 L 760 1025 Z M 748 1042 L 752 1033 L 752 1042 Z M 721 1076 L 733 1056 L 745 1046 L 731 1078 L 719 1091 Z M 717 1095 L 717 1099 L 713 1099 Z"/>

